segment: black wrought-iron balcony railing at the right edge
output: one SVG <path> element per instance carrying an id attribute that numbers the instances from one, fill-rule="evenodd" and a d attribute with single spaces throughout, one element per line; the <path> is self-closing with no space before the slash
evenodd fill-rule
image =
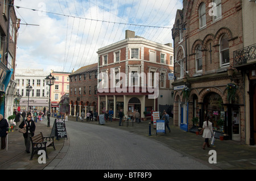
<path id="1" fill-rule="evenodd" d="M 256 44 L 234 51 L 234 66 L 247 64 L 256 59 Z"/>

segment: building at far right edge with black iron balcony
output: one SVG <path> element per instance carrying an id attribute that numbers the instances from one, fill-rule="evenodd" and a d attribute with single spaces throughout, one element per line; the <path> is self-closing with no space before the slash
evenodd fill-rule
<path id="1" fill-rule="evenodd" d="M 234 73 L 241 71 L 245 84 L 246 144 L 256 143 L 256 1 L 242 1 L 243 48 L 234 51 Z"/>

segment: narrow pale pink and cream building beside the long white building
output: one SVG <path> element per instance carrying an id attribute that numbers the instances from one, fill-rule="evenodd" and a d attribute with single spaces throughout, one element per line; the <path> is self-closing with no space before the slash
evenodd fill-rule
<path id="1" fill-rule="evenodd" d="M 69 74 L 68 72 L 53 71 L 51 75 L 55 77 L 54 85 L 51 86 L 51 112 L 59 112 L 61 96 L 69 94 Z"/>

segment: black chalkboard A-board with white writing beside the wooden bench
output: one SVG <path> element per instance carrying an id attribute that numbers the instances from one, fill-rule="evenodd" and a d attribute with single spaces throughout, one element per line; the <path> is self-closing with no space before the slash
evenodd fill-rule
<path id="1" fill-rule="evenodd" d="M 51 136 L 56 136 L 57 140 L 59 140 L 59 138 L 68 138 L 64 119 L 55 119 Z"/>

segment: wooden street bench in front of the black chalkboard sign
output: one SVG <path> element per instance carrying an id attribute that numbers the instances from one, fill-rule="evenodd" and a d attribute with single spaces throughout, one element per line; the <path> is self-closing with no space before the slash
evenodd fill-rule
<path id="1" fill-rule="evenodd" d="M 43 133 L 40 132 L 40 134 L 30 137 L 30 140 L 31 140 L 31 145 L 32 145 L 32 153 L 31 153 L 30 160 L 32 160 L 34 154 L 38 153 L 39 150 L 46 151 L 46 148 L 49 146 L 52 146 L 53 149 L 56 150 L 54 141 L 53 141 L 54 136 L 44 137 Z M 48 158 L 47 153 L 46 153 L 46 158 Z"/>

